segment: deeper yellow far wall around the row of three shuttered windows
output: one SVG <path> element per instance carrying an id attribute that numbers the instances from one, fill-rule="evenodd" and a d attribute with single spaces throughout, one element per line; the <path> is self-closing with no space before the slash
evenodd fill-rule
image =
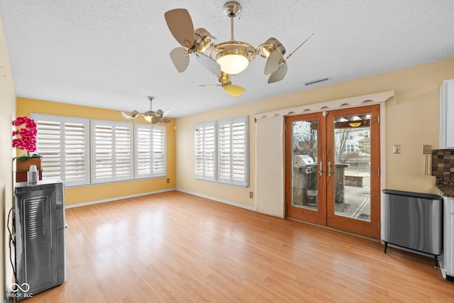
<path id="1" fill-rule="evenodd" d="M 17 98 L 17 116 L 30 116 L 31 113 L 126 121 L 121 116 L 121 111 Z M 116 197 L 128 197 L 135 194 L 175 188 L 175 120 L 171 120 L 171 123 L 166 124 L 167 175 L 165 177 L 109 184 L 93 184 L 83 187 L 67 187 L 65 189 L 65 204 L 68 206 L 87 202 L 97 202 L 115 199 Z M 138 117 L 137 122 L 149 123 L 143 119 L 142 116 Z M 167 178 L 170 179 L 170 183 L 166 182 Z"/>

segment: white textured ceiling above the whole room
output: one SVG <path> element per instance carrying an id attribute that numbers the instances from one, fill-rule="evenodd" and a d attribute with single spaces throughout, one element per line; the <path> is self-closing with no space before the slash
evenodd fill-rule
<path id="1" fill-rule="evenodd" d="M 16 95 L 121 111 L 170 109 L 181 117 L 321 85 L 454 57 L 453 0 L 238 0 L 236 40 L 257 47 L 277 38 L 287 55 L 280 82 L 267 84 L 258 56 L 233 84 L 237 98 L 191 58 L 179 74 L 179 46 L 164 13 L 184 8 L 195 28 L 230 39 L 226 0 L 0 0 Z M 304 82 L 331 77 L 309 87 Z"/>

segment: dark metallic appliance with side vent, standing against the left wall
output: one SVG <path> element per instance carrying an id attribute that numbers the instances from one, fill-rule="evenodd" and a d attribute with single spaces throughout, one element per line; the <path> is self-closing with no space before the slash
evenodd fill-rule
<path id="1" fill-rule="evenodd" d="M 66 280 L 64 187 L 60 180 L 16 183 L 18 300 Z"/>

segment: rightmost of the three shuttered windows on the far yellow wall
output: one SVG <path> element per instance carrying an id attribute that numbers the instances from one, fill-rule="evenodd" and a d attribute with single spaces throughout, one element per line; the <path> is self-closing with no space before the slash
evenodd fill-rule
<path id="1" fill-rule="evenodd" d="M 135 125 L 135 178 L 163 177 L 167 174 L 165 131 L 165 126 Z"/>

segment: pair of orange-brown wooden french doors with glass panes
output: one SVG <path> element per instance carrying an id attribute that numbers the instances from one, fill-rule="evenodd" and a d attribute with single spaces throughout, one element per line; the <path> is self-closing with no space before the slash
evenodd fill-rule
<path id="1" fill-rule="evenodd" d="M 380 238 L 380 106 L 286 117 L 286 215 Z"/>

